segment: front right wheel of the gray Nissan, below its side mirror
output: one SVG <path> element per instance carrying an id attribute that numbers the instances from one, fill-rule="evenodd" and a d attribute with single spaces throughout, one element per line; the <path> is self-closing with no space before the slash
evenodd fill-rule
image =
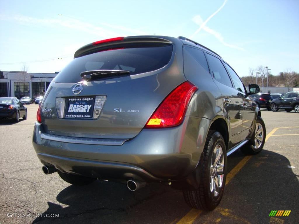
<path id="1" fill-rule="evenodd" d="M 266 139 L 266 127 L 263 119 L 257 116 L 255 130 L 251 140 L 241 148 L 244 154 L 255 155 L 262 151 Z"/>

